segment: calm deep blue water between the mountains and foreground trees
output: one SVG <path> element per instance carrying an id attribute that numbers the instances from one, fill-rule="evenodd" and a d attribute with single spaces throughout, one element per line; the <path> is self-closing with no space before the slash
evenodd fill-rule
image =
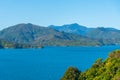
<path id="1" fill-rule="evenodd" d="M 81 71 L 120 46 L 0 49 L 0 80 L 60 80 L 69 66 Z"/>

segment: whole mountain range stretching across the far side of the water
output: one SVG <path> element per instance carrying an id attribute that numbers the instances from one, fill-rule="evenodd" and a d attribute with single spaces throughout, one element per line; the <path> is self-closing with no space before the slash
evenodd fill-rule
<path id="1" fill-rule="evenodd" d="M 36 46 L 101 46 L 119 45 L 120 30 L 88 28 L 77 23 L 63 26 L 39 26 L 21 23 L 0 31 L 0 39 Z"/>

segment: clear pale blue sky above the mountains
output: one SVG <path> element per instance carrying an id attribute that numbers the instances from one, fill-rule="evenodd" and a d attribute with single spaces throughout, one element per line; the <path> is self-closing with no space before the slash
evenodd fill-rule
<path id="1" fill-rule="evenodd" d="M 78 23 L 120 29 L 120 0 L 0 0 L 0 29 Z"/>

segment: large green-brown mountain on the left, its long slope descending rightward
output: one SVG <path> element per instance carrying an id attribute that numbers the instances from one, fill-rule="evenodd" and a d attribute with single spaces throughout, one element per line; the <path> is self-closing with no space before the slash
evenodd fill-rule
<path id="1" fill-rule="evenodd" d="M 31 23 L 17 24 L 3 29 L 0 31 L 0 39 L 37 46 L 100 45 L 97 40 Z"/>

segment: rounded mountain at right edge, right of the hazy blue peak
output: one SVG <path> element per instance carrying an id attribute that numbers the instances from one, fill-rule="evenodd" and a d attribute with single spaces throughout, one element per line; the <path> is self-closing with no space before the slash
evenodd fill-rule
<path id="1" fill-rule="evenodd" d="M 120 30 L 114 28 L 94 28 L 89 31 L 86 36 L 93 39 L 99 39 L 99 41 L 105 45 L 120 45 Z"/>

